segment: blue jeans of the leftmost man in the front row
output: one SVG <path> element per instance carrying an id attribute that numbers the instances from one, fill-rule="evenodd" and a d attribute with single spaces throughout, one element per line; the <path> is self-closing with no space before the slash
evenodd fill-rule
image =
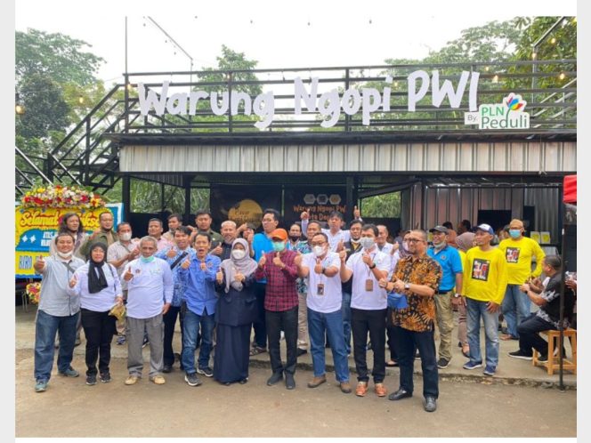
<path id="1" fill-rule="evenodd" d="M 58 371 L 65 372 L 72 363 L 76 325 L 80 312 L 72 316 L 55 317 L 37 310 L 35 322 L 35 379 L 48 382 L 52 375 L 55 334 L 60 332 Z"/>

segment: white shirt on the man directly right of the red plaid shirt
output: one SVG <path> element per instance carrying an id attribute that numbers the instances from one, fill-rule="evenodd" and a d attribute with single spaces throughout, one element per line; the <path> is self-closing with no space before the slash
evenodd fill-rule
<path id="1" fill-rule="evenodd" d="M 306 305 L 311 310 L 328 314 L 341 309 L 343 294 L 341 293 L 341 278 L 337 272 L 333 277 L 327 277 L 324 274 L 314 272 L 316 266 L 316 255 L 304 254 L 302 256 L 302 265 L 310 270 L 308 274 L 308 295 Z M 328 252 L 322 260 L 323 268 L 336 267 L 340 269 L 341 259 L 338 254 Z M 319 285 L 321 285 L 322 295 L 319 294 Z"/>

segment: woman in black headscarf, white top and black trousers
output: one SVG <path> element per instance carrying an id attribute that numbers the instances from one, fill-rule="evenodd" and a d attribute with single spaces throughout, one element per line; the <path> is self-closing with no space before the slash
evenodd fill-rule
<path id="1" fill-rule="evenodd" d="M 123 303 L 117 270 L 105 261 L 106 258 L 107 246 L 94 244 L 88 262 L 78 268 L 69 281 L 68 293 L 80 296 L 82 327 L 86 336 L 86 384 L 89 386 L 96 384 L 97 359 L 101 382 L 111 381 L 110 343 L 115 334 L 115 317 L 109 316 L 109 310 L 115 303 Z"/>

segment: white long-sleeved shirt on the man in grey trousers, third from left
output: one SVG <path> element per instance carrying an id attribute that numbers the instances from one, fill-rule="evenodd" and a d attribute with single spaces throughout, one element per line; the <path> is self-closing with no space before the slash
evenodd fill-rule
<path id="1" fill-rule="evenodd" d="M 127 282 L 127 315 L 131 318 L 152 318 L 162 313 L 165 303 L 173 301 L 173 273 L 164 260 L 154 258 L 144 263 L 135 259 L 125 266 L 134 277 Z"/>

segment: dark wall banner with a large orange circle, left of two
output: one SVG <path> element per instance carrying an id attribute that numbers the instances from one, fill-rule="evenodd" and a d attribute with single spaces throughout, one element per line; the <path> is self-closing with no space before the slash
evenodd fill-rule
<path id="1" fill-rule="evenodd" d="M 213 226 L 217 229 L 220 223 L 231 220 L 237 226 L 253 223 L 258 230 L 265 209 L 272 208 L 281 212 L 281 187 L 213 185 L 209 207 L 214 220 Z"/>

